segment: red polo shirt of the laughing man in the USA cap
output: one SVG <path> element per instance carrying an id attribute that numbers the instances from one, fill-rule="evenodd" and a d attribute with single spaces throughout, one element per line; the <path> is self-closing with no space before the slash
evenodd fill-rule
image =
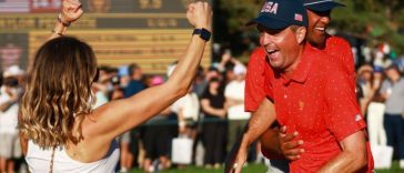
<path id="1" fill-rule="evenodd" d="M 306 47 L 292 74 L 274 72 L 267 93 L 279 123 L 304 141 L 305 152 L 290 163 L 291 172 L 317 171 L 342 152 L 339 142 L 366 126 L 349 78 L 325 57 Z"/>

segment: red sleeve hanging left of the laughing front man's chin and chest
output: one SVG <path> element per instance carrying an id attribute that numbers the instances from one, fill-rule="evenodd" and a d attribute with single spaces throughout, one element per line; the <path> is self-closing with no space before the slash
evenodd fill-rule
<path id="1" fill-rule="evenodd" d="M 267 75 L 269 67 L 265 61 L 265 52 L 262 48 L 257 48 L 250 57 L 245 77 L 245 111 L 254 112 L 265 96 L 270 95 L 272 98 L 272 90 L 265 84 L 269 81 Z"/>

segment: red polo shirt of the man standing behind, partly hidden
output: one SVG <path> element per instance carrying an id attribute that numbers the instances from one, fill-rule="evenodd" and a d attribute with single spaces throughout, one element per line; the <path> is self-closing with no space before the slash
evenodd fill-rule
<path id="1" fill-rule="evenodd" d="M 310 44 L 307 45 L 311 47 Z M 335 65 L 340 65 L 343 69 L 350 78 L 352 90 L 355 91 L 355 68 L 350 44 L 342 38 L 330 35 L 325 41 L 325 49 L 319 51 L 324 51 L 332 55 L 327 58 L 333 61 Z M 265 77 L 264 69 L 269 68 L 265 61 L 266 54 L 262 48 L 255 49 L 250 57 L 245 77 L 245 111 L 256 111 L 262 99 L 265 98 L 264 88 L 267 86 L 265 85 L 265 81 L 270 80 Z"/>

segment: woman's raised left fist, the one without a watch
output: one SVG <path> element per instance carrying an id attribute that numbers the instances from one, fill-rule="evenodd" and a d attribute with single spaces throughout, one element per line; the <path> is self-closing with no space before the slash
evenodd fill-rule
<path id="1" fill-rule="evenodd" d="M 61 21 L 71 23 L 83 14 L 81 2 L 79 0 L 63 0 Z"/>

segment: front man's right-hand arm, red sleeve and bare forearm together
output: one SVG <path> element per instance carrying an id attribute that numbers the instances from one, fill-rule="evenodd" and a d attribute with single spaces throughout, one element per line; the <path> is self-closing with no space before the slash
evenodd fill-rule
<path id="1" fill-rule="evenodd" d="M 342 152 L 330 160 L 320 172 L 356 172 L 367 165 L 367 149 L 363 115 L 349 78 L 340 70 L 329 73 L 325 102 L 330 114 L 324 116 L 327 129 L 340 141 Z"/>

